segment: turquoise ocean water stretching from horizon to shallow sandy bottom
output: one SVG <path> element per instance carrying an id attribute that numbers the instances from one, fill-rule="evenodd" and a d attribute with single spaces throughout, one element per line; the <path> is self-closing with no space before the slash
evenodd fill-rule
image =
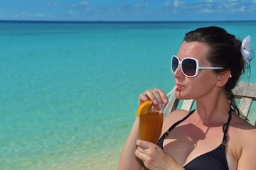
<path id="1" fill-rule="evenodd" d="M 117 169 L 139 94 L 174 86 L 171 55 L 201 26 L 256 51 L 256 22 L 0 22 L 0 169 Z"/>

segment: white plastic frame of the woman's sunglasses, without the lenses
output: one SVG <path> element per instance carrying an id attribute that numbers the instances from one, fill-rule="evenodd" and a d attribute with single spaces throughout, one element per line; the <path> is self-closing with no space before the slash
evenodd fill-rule
<path id="1" fill-rule="evenodd" d="M 186 57 L 186 58 L 183 58 L 183 60 L 185 60 L 185 59 L 191 59 L 191 60 L 196 61 L 196 73 L 195 73 L 193 76 L 188 76 L 188 75 L 186 75 L 186 74 L 183 72 L 183 69 L 182 69 L 182 62 L 183 62 L 183 60 L 179 60 L 179 58 L 178 58 L 176 55 L 173 55 L 173 56 L 171 57 L 171 63 L 173 62 L 173 58 L 174 58 L 174 57 L 176 57 L 176 59 L 178 60 L 178 65 L 181 65 L 181 72 L 184 74 L 184 76 L 190 77 L 190 78 L 197 77 L 197 76 L 198 76 L 198 72 L 199 72 L 200 69 L 224 69 L 223 67 L 201 67 L 201 66 L 199 66 L 199 61 L 198 61 L 197 59 L 192 58 L 192 57 Z M 178 69 L 178 67 L 177 67 L 177 69 Z M 176 69 L 176 70 L 177 70 L 177 69 Z M 173 74 L 174 74 L 174 72 L 176 72 L 176 70 L 174 71 L 174 70 L 172 69 L 172 67 L 171 67 L 171 72 L 172 72 Z"/>

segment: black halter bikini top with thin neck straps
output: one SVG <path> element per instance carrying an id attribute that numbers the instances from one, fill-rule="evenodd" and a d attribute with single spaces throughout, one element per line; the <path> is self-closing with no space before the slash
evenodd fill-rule
<path id="1" fill-rule="evenodd" d="M 186 115 L 183 119 L 178 120 L 178 122 L 174 123 L 174 125 L 171 125 L 169 130 L 164 132 L 164 135 L 161 136 L 159 142 L 157 145 L 164 149 L 163 142 L 165 137 L 173 130 L 178 124 L 182 123 L 184 120 L 186 120 L 195 110 L 191 111 Z M 230 120 L 232 118 L 233 109 L 230 108 L 230 111 L 228 111 L 228 121 L 223 125 L 223 141 L 221 144 L 213 149 L 210 152 L 206 152 L 205 154 L 201 154 L 200 156 L 193 159 L 191 162 L 188 162 L 183 168 L 186 170 L 228 170 L 228 162 L 225 156 L 225 145 L 227 142 L 227 132 L 228 132 L 228 125 L 230 124 Z"/>

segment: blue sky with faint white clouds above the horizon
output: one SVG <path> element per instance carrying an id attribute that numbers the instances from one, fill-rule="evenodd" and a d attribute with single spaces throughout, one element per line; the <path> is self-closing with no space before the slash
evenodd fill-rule
<path id="1" fill-rule="evenodd" d="M 0 20 L 255 21 L 256 0 L 1 0 Z"/>

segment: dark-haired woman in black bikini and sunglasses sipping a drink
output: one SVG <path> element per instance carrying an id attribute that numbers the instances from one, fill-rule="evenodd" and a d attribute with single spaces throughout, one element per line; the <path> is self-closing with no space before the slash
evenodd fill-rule
<path id="1" fill-rule="evenodd" d="M 137 118 L 118 169 L 255 170 L 256 129 L 242 118 L 232 93 L 241 74 L 250 71 L 249 41 L 218 27 L 187 33 L 171 69 L 176 98 L 195 99 L 196 110 L 169 114 L 157 145 L 138 139 Z M 159 108 L 168 103 L 160 89 L 139 96 L 139 104 L 149 100 Z"/>

